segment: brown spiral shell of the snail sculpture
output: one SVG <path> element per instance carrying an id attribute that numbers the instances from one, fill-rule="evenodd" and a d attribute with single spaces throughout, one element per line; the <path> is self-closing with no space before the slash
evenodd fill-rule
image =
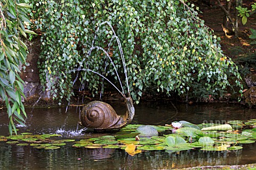
<path id="1" fill-rule="evenodd" d="M 79 118 L 82 125 L 94 130 L 116 129 L 124 124 L 123 117 L 117 115 L 113 107 L 102 101 L 92 101 L 85 105 Z"/>

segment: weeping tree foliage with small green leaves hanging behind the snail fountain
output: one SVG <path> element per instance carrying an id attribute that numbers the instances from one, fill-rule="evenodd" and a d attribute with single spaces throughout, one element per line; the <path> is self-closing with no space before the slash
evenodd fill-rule
<path id="1" fill-rule="evenodd" d="M 111 42 L 114 32 L 106 25 L 95 33 L 105 21 L 114 25 L 122 42 L 133 100 L 138 102 L 145 91 L 208 97 L 222 94 L 233 85 L 242 94 L 237 66 L 222 54 L 220 39 L 199 18 L 194 4 L 178 0 L 60 3 L 39 0 L 31 1 L 31 6 L 34 8 L 30 15 L 42 32 L 40 79 L 45 89 L 60 101 L 69 100 L 74 94 L 73 75 L 66 71 L 76 69 L 84 59 L 84 69 L 119 81 L 106 54 L 95 50 L 87 55 L 96 35 L 94 44 L 102 48 L 110 44 L 107 53 L 115 58 L 117 72 L 124 73 L 122 58 L 117 53 L 119 47 Z M 235 84 L 230 84 L 231 79 Z M 93 94 L 106 87 L 106 81 L 92 72 L 82 73 L 80 80 L 82 87 Z M 124 91 L 127 92 L 127 87 Z"/>

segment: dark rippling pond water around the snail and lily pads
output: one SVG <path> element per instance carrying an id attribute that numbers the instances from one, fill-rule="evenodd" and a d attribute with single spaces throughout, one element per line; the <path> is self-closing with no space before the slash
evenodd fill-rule
<path id="1" fill-rule="evenodd" d="M 123 103 L 111 104 L 116 112 L 125 113 Z M 173 107 L 173 105 L 175 107 Z M 18 127 L 19 133 L 59 133 L 60 139 L 84 139 L 97 134 L 81 130 L 77 126 L 82 107 L 26 108 L 26 126 Z M 0 110 L 0 135 L 9 135 L 5 109 Z M 256 118 L 256 110 L 235 104 L 173 104 L 170 101 L 155 101 L 135 106 L 132 124 L 164 125 L 173 121 L 200 123 L 225 123 L 230 120 Z M 167 153 L 164 150 L 143 151 L 135 156 L 122 149 L 74 148 L 67 142 L 56 150 L 36 149 L 0 142 L 0 169 L 172 169 L 206 165 L 241 165 L 256 163 L 256 145 L 243 144 L 236 151 L 203 151 L 199 149 Z"/>

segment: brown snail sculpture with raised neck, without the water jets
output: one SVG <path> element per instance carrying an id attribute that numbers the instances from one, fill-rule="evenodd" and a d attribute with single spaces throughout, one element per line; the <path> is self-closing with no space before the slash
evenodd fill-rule
<path id="1" fill-rule="evenodd" d="M 119 116 L 109 104 L 92 101 L 83 107 L 79 119 L 83 126 L 94 131 L 116 131 L 131 123 L 135 114 L 131 97 L 125 98 L 125 106 L 125 115 Z"/>

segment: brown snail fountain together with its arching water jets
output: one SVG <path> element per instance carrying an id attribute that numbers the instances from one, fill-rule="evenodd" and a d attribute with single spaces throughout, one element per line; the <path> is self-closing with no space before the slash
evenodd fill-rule
<path id="1" fill-rule="evenodd" d="M 108 50 L 105 50 L 102 47 L 94 46 L 94 40 L 97 38 L 96 32 L 99 31 L 99 28 L 102 24 L 106 24 L 106 23 L 109 25 L 109 27 L 113 31 L 113 37 L 111 38 L 110 43 L 108 45 Z M 120 56 L 121 56 L 122 63 L 123 63 L 123 69 L 124 69 L 124 74 L 125 74 L 125 82 L 126 82 L 126 89 L 127 89 L 128 97 L 125 96 L 125 92 L 124 92 L 124 89 L 123 89 L 123 84 L 122 84 L 122 82 L 119 78 L 116 66 L 115 66 L 114 62 L 112 61 L 111 57 L 109 56 L 111 41 L 114 40 L 114 39 L 117 41 Z M 123 98 L 125 100 L 126 113 L 125 113 L 124 116 L 119 116 L 119 115 L 116 114 L 113 107 L 111 107 L 109 104 L 104 103 L 102 101 L 92 101 L 92 102 L 86 104 L 83 107 L 82 112 L 79 114 L 79 120 L 81 121 L 81 122 L 79 122 L 79 124 L 85 126 L 86 128 L 91 128 L 94 131 L 116 131 L 116 130 L 120 130 L 121 128 L 123 128 L 124 126 L 126 126 L 127 124 L 132 122 L 133 116 L 135 114 L 135 109 L 134 109 L 134 106 L 133 106 L 132 98 L 130 96 L 129 83 L 128 83 L 128 79 L 127 79 L 127 71 L 126 71 L 126 65 L 125 65 L 125 58 L 124 58 L 121 42 L 118 39 L 118 37 L 116 36 L 115 30 L 113 29 L 113 27 L 111 26 L 111 24 L 108 21 L 102 22 L 101 24 L 99 24 L 97 30 L 95 31 L 95 37 L 92 41 L 92 46 L 91 46 L 89 52 L 87 53 L 88 57 L 91 55 L 91 52 L 92 52 L 93 49 L 101 50 L 103 53 L 105 53 L 105 56 L 107 56 L 107 60 L 109 60 L 110 63 L 114 67 L 115 74 L 117 75 L 117 78 L 118 78 L 119 83 L 120 83 L 121 88 L 122 88 L 122 92 L 112 82 L 110 82 L 107 78 L 105 78 L 102 74 L 100 74 L 96 71 L 93 71 L 91 69 L 85 69 L 85 68 L 88 68 L 88 67 L 82 65 L 84 62 L 86 62 L 85 58 L 83 59 L 82 64 L 80 64 L 78 69 L 75 69 L 74 71 L 93 72 L 95 74 L 98 74 L 100 77 L 102 77 L 103 80 L 107 80 L 109 83 L 111 83 L 120 92 L 120 94 L 123 96 Z M 75 81 L 77 80 L 77 78 L 78 78 L 78 73 L 77 73 L 76 79 L 73 82 L 73 85 L 74 85 Z"/>

